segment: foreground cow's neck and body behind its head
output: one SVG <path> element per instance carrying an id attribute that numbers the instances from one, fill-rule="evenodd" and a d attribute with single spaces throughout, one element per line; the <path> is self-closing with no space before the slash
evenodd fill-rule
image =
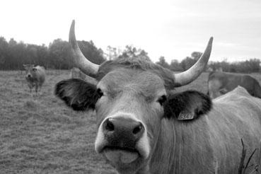
<path id="1" fill-rule="evenodd" d="M 260 98 L 238 87 L 214 99 L 211 111 L 197 120 L 163 119 L 151 173 L 238 173 L 243 148 L 240 139 L 248 158 L 259 147 L 260 116 Z M 251 163 L 258 163 L 256 155 Z"/>

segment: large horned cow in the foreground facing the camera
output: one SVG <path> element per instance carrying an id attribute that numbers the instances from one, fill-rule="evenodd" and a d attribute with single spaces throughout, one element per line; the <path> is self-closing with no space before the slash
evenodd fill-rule
<path id="1" fill-rule="evenodd" d="M 175 74 L 139 57 L 93 64 L 77 45 L 74 25 L 74 64 L 97 83 L 62 80 L 54 94 L 73 110 L 95 110 L 95 151 L 118 173 L 238 173 L 240 139 L 252 151 L 261 138 L 261 100 L 244 88 L 216 100 L 198 91 L 173 91 L 204 71 L 213 37 L 190 69 Z"/>

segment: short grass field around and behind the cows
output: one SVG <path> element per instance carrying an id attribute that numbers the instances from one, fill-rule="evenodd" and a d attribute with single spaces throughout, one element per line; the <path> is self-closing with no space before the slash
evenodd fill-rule
<path id="1" fill-rule="evenodd" d="M 206 93 L 207 76 L 176 91 Z M 62 79 L 69 71 L 47 71 L 40 95 L 32 96 L 24 72 L 0 71 L 0 173 L 115 173 L 94 151 L 95 115 L 74 112 L 54 96 Z"/>

